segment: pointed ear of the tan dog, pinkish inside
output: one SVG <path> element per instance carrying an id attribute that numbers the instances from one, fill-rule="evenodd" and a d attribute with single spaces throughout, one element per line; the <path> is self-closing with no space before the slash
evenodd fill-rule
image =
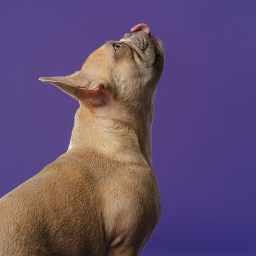
<path id="1" fill-rule="evenodd" d="M 108 83 L 102 80 L 90 81 L 79 71 L 69 76 L 40 77 L 40 81 L 56 85 L 71 97 L 91 107 L 106 104 Z"/>

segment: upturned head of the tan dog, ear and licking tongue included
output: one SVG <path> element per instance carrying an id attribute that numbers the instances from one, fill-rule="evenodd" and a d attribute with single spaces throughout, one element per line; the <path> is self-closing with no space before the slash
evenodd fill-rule
<path id="1" fill-rule="evenodd" d="M 145 115 L 163 71 L 164 47 L 151 37 L 146 24 L 138 24 L 132 31 L 137 32 L 94 51 L 80 71 L 39 80 L 58 86 L 101 116 L 117 118 L 120 108 Z"/>

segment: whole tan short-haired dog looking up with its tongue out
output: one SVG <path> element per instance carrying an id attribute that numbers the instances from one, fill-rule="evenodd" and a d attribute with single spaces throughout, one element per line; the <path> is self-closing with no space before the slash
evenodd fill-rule
<path id="1" fill-rule="evenodd" d="M 158 224 L 151 126 L 164 47 L 137 24 L 80 71 L 41 77 L 79 102 L 66 153 L 0 199 L 1 256 L 138 256 Z"/>

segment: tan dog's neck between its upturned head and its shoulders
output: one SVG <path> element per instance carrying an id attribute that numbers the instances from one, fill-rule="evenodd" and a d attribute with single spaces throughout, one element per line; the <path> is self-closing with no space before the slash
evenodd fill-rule
<path id="1" fill-rule="evenodd" d="M 93 150 L 114 161 L 136 163 L 143 159 L 151 166 L 151 123 L 144 120 L 142 124 L 130 125 L 99 116 L 80 103 L 74 117 L 68 153 L 82 154 Z"/>

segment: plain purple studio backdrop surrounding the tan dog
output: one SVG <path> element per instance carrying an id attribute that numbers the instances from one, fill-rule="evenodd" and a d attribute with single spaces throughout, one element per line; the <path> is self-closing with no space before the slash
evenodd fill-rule
<path id="1" fill-rule="evenodd" d="M 78 103 L 38 77 L 80 70 L 146 23 L 166 62 L 153 125 L 162 216 L 142 255 L 255 255 L 255 13 L 255 0 L 2 0 L 0 196 L 69 145 Z"/>

